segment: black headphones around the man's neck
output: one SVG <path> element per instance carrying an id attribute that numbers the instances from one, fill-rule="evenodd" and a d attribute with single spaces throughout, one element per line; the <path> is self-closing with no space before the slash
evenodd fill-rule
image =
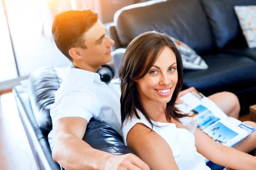
<path id="1" fill-rule="evenodd" d="M 77 68 L 75 65 L 71 65 L 71 67 Z M 100 80 L 102 82 L 105 82 L 107 85 L 108 83 L 111 82 L 113 77 L 116 75 L 115 68 L 112 65 L 108 65 L 108 64 L 102 65 L 102 67 L 99 68 L 99 70 L 97 70 L 96 73 L 100 75 Z"/>

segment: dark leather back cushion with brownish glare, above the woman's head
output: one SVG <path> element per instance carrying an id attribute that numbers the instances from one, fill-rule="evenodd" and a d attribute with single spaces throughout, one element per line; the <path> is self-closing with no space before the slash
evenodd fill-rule
<path id="1" fill-rule="evenodd" d="M 155 0 L 120 9 L 114 16 L 121 47 L 146 31 L 161 31 L 198 53 L 215 47 L 201 0 Z"/>

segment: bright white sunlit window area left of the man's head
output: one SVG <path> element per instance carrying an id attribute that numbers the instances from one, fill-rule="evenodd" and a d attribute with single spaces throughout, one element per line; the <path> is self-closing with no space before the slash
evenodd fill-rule
<path id="1" fill-rule="evenodd" d="M 70 63 L 52 39 L 52 14 L 46 0 L 7 0 L 6 9 L 21 77 L 43 66 Z"/>

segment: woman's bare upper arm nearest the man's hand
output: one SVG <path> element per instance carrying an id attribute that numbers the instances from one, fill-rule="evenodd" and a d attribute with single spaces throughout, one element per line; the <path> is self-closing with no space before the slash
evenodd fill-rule
<path id="1" fill-rule="evenodd" d="M 141 123 L 134 125 L 127 134 L 126 142 L 151 170 L 179 169 L 169 144 L 147 126 Z"/>

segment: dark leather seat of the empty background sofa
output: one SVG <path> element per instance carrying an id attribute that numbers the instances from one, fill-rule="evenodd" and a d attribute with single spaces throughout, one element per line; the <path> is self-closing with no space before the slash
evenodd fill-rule
<path id="1" fill-rule="evenodd" d="M 202 56 L 208 70 L 184 70 L 183 86 L 194 86 L 204 95 L 219 91 L 237 92 L 256 87 L 256 62 L 249 57 L 233 54 Z"/>

